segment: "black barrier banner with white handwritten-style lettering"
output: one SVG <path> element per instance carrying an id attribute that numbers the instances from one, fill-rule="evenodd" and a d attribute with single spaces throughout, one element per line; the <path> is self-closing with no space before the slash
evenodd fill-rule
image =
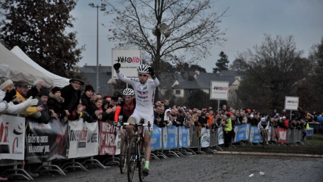
<path id="1" fill-rule="evenodd" d="M 67 124 L 51 118 L 48 124 L 26 118 L 26 160 L 30 162 L 51 161 L 67 158 Z"/>

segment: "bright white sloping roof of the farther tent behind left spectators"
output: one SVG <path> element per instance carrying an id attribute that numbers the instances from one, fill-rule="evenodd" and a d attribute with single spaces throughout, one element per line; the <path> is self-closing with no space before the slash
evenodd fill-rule
<path id="1" fill-rule="evenodd" d="M 35 63 L 32 59 L 30 59 L 18 46 L 15 46 L 12 50 L 12 53 L 14 53 L 16 56 L 18 56 L 21 60 L 26 62 L 27 64 L 31 65 L 32 67 L 36 68 L 38 71 L 42 72 L 43 74 L 49 76 L 52 78 L 53 84 L 55 86 L 64 87 L 68 84 L 70 84 L 70 79 L 64 78 L 62 76 L 53 74 L 47 70 L 45 70 L 43 67 L 39 66 L 37 63 Z"/>

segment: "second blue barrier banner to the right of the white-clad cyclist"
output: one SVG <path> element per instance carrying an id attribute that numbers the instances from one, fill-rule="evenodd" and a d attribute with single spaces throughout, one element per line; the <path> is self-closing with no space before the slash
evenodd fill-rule
<path id="1" fill-rule="evenodd" d="M 167 126 L 163 128 L 163 149 L 175 149 L 178 147 L 178 127 Z"/>

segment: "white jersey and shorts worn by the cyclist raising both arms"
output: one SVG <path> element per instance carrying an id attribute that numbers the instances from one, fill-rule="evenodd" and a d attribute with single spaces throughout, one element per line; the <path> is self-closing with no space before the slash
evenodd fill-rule
<path id="1" fill-rule="evenodd" d="M 137 122 L 140 122 L 140 119 L 144 119 L 145 123 L 150 121 L 152 128 L 153 100 L 155 88 L 159 85 L 159 80 L 157 78 L 147 79 L 145 83 L 140 83 L 139 78 L 128 78 L 120 72 L 117 73 L 117 76 L 120 80 L 130 84 L 135 91 L 136 108 L 132 116 L 136 118 Z"/>

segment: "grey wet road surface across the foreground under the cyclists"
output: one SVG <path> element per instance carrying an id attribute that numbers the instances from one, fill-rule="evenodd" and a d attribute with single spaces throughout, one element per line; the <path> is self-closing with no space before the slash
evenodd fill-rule
<path id="1" fill-rule="evenodd" d="M 151 160 L 150 174 L 145 181 L 322 181 L 323 158 L 253 156 L 253 155 L 191 155 L 181 158 Z M 264 172 L 260 175 L 259 172 Z M 249 177 L 253 174 L 252 177 Z M 18 180 L 25 181 L 25 180 Z M 91 168 L 42 174 L 34 181 L 127 181 L 118 166 Z M 139 181 L 136 172 L 134 181 Z"/>

